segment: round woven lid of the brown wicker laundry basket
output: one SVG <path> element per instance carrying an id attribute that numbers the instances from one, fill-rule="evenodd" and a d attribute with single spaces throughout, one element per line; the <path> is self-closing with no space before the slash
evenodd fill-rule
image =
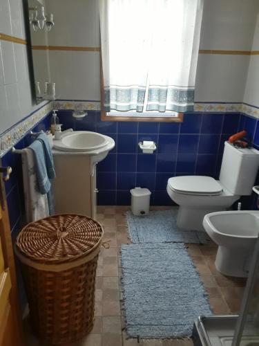
<path id="1" fill-rule="evenodd" d="M 54 215 L 26 225 L 16 241 L 22 255 L 41 263 L 64 263 L 100 246 L 102 225 L 83 215 Z"/>

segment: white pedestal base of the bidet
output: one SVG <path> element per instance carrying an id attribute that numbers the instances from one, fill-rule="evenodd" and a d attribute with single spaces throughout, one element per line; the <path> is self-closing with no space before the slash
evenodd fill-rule
<path id="1" fill-rule="evenodd" d="M 223 275 L 247 277 L 253 248 L 218 246 L 215 267 Z"/>

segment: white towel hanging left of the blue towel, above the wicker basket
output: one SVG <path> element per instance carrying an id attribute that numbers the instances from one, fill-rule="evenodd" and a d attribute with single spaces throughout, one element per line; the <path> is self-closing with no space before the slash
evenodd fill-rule
<path id="1" fill-rule="evenodd" d="M 23 187 L 26 206 L 26 221 L 32 222 L 49 216 L 47 194 L 37 190 L 35 161 L 31 149 L 23 149 Z"/>

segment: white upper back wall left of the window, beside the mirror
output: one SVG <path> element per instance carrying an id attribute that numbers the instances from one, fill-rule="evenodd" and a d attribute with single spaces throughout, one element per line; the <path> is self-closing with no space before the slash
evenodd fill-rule
<path id="1" fill-rule="evenodd" d="M 55 26 L 48 33 L 50 46 L 99 47 L 99 14 L 96 0 L 46 0 Z M 68 15 L 69 14 L 69 15 Z M 50 75 L 57 97 L 100 100 L 99 52 L 49 51 Z"/>

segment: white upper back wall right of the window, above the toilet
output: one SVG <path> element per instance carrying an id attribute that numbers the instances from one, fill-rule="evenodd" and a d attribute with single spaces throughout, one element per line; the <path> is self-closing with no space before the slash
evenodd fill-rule
<path id="1" fill-rule="evenodd" d="M 200 49 L 250 51 L 258 0 L 204 0 Z M 200 54 L 196 102 L 242 102 L 249 55 Z"/>

